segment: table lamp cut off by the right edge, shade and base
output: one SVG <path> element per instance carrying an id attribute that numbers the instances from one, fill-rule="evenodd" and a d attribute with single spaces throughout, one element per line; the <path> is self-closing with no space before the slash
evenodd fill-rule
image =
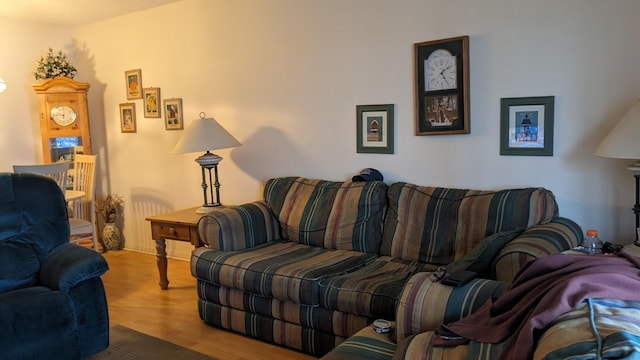
<path id="1" fill-rule="evenodd" d="M 602 140 L 593 153 L 615 159 L 640 159 L 640 101 L 637 101 L 618 124 Z M 640 228 L 640 161 L 627 167 L 636 179 L 636 203 L 633 213 L 636 215 L 636 240 L 634 245 L 640 246 L 638 229 Z"/>

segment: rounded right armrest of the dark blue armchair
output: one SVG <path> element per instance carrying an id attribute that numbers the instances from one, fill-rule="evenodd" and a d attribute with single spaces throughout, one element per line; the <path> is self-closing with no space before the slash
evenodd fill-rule
<path id="1" fill-rule="evenodd" d="M 68 292 L 78 283 L 100 277 L 109 265 L 102 255 L 75 244 L 53 249 L 40 268 L 40 281 L 56 290 Z"/>

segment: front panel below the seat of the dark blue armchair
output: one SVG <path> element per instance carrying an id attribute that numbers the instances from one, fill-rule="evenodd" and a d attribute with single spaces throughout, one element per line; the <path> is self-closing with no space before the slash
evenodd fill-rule
<path id="1" fill-rule="evenodd" d="M 71 298 L 44 286 L 32 286 L 0 294 L 0 345 L 25 343 L 53 336 L 73 338 L 75 317 Z M 3 346 L 4 348 L 4 346 Z"/>

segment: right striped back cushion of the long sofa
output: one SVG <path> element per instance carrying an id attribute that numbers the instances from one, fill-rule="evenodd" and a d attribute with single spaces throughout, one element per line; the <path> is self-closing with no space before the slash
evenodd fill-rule
<path id="1" fill-rule="evenodd" d="M 395 183 L 381 255 L 446 265 L 489 235 L 545 224 L 558 214 L 544 188 L 483 191 Z"/>

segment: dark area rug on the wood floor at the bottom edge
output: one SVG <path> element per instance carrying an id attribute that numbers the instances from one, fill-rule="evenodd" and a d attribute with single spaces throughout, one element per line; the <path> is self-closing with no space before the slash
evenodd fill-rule
<path id="1" fill-rule="evenodd" d="M 183 348 L 168 341 L 149 336 L 124 326 L 115 325 L 109 330 L 109 348 L 86 360 L 215 360 L 199 352 Z"/>

